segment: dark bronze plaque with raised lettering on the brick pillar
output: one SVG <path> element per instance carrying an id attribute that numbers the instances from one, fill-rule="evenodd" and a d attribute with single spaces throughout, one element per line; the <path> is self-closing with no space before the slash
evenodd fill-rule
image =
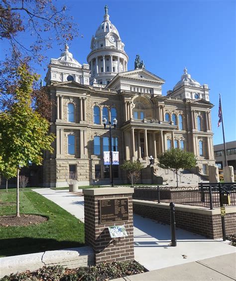
<path id="1" fill-rule="evenodd" d="M 128 221 L 128 198 L 101 199 L 101 224 Z"/>

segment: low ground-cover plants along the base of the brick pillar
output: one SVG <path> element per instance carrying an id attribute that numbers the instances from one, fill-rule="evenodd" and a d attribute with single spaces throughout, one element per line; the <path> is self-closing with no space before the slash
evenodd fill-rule
<path id="1" fill-rule="evenodd" d="M 103 263 L 97 266 L 78 269 L 64 269 L 61 266 L 43 267 L 36 272 L 11 274 L 4 280 L 60 280 L 60 281 L 107 281 L 110 279 L 144 273 L 145 269 L 137 262 Z"/>

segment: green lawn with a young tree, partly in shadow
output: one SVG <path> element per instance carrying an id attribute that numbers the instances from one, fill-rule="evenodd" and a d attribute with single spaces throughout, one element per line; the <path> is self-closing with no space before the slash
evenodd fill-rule
<path id="1" fill-rule="evenodd" d="M 1 193 L 1 215 L 15 215 L 16 194 Z M 84 224 L 33 191 L 20 192 L 20 213 L 48 217 L 38 225 L 0 227 L 0 256 L 14 256 L 84 246 Z"/>

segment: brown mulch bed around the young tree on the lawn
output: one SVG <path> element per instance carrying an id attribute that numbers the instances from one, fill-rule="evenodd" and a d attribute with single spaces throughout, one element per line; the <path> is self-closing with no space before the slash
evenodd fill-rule
<path id="1" fill-rule="evenodd" d="M 12 227 L 12 226 L 29 226 L 38 225 L 46 222 L 48 219 L 42 216 L 36 215 L 20 215 L 20 218 L 15 216 L 1 216 L 0 226 L 2 227 Z"/>

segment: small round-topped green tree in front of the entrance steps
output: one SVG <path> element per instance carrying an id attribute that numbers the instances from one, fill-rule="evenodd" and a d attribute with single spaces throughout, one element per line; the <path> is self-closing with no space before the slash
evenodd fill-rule
<path id="1" fill-rule="evenodd" d="M 192 152 L 172 148 L 157 157 L 163 169 L 174 169 L 178 187 L 178 169 L 191 169 L 196 166 L 196 157 Z"/>

